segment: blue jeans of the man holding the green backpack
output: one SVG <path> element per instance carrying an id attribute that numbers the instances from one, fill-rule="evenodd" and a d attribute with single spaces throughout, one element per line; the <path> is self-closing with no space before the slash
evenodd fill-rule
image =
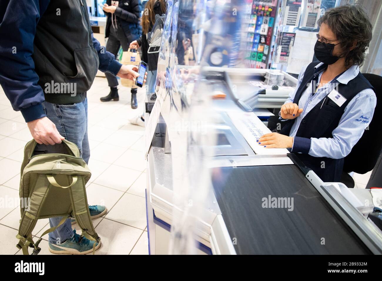
<path id="1" fill-rule="evenodd" d="M 90 148 L 87 138 L 87 99 L 76 104 L 51 104 L 43 102 L 47 117 L 56 125 L 58 132 L 66 140 L 75 143 L 81 150 L 81 157 L 84 161 L 89 161 Z M 50 227 L 57 226 L 62 217 L 49 219 Z M 56 244 L 64 242 L 73 236 L 71 220 L 67 219 L 65 223 L 49 233 L 49 242 Z"/>

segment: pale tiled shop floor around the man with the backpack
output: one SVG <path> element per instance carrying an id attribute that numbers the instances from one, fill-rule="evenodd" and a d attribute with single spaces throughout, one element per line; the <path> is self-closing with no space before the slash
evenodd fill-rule
<path id="1" fill-rule="evenodd" d="M 142 112 L 144 89 L 138 89 L 138 109 L 131 109 L 130 89 L 119 88 L 118 102 L 100 102 L 99 98 L 108 94 L 108 86 L 105 78 L 97 77 L 87 93 L 92 171 L 87 198 L 89 204 L 108 209 L 104 217 L 93 221 L 102 239 L 96 254 L 142 255 L 148 254 L 144 128 L 131 125 L 128 119 Z M 0 199 L 12 198 L 13 202 L 0 206 L 0 254 L 22 254 L 15 247 L 20 219 L 18 190 L 23 149 L 31 139 L 20 112 L 12 110 L 0 88 Z M 47 228 L 48 219 L 40 219 L 32 234 L 38 236 Z M 43 254 L 51 254 L 47 237 L 41 242 Z"/>

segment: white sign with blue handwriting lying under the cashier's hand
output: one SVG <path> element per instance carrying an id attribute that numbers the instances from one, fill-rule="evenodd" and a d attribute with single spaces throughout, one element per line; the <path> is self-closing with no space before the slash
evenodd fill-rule
<path id="1" fill-rule="evenodd" d="M 257 140 L 262 135 L 271 132 L 253 112 L 228 112 L 228 116 L 256 154 L 285 155 L 289 153 L 286 148 L 265 148 L 259 145 Z"/>

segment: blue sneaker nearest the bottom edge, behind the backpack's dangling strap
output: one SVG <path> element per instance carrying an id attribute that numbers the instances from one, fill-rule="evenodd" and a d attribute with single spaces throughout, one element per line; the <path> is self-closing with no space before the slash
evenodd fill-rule
<path id="1" fill-rule="evenodd" d="M 101 246 L 101 242 L 95 242 L 82 237 L 73 230 L 73 236 L 61 244 L 52 244 L 49 242 L 49 251 L 55 254 L 73 254 L 84 255 L 93 252 L 93 245 L 95 244 L 95 250 Z"/>

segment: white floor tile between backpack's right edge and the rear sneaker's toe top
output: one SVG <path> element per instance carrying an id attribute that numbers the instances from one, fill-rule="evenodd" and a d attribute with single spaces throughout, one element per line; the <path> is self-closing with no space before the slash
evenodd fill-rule
<path id="1" fill-rule="evenodd" d="M 123 192 L 98 184 L 90 184 L 86 188 L 87 203 L 89 205 L 106 206 L 110 211 L 115 203 L 122 197 Z"/>

